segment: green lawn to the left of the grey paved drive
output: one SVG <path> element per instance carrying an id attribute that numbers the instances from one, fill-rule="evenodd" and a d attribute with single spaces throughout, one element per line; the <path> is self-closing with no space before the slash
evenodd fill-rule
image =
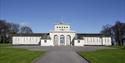
<path id="1" fill-rule="evenodd" d="M 0 45 L 0 63 L 32 63 L 43 54 L 42 51 L 29 51 L 11 48 L 10 45 Z"/>

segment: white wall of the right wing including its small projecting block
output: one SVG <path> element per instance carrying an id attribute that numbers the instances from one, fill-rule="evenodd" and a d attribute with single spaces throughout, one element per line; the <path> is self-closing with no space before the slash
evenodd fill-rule
<path id="1" fill-rule="evenodd" d="M 80 42 L 79 42 L 80 41 Z M 83 46 L 83 45 L 111 45 L 111 37 L 84 37 L 83 40 L 75 40 L 74 46 Z"/>

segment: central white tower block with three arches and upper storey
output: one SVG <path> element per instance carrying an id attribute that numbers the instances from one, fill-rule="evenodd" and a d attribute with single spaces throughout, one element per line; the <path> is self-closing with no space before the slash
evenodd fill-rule
<path id="1" fill-rule="evenodd" d="M 69 24 L 60 22 L 54 25 L 54 30 L 50 32 L 53 45 L 73 45 L 72 40 L 75 37 L 75 32 L 71 31 Z"/>

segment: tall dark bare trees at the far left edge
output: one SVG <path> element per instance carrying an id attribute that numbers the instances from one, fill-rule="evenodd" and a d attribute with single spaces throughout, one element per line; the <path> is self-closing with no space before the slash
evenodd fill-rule
<path id="1" fill-rule="evenodd" d="M 0 20 L 0 43 L 11 42 L 13 34 L 19 31 L 19 24 L 9 23 L 5 20 Z"/>

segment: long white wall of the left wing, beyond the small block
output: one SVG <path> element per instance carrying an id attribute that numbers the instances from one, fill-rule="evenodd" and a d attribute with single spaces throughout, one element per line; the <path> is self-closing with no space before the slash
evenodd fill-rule
<path id="1" fill-rule="evenodd" d="M 13 36 L 12 44 L 39 44 L 41 37 L 35 36 Z"/>

